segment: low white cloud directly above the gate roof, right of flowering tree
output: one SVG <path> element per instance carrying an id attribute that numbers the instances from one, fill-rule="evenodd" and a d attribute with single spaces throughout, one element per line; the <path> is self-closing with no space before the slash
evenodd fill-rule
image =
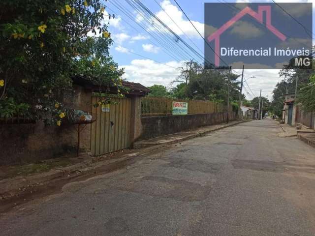
<path id="1" fill-rule="evenodd" d="M 144 86 L 158 84 L 168 87 L 179 76 L 180 70 L 176 68 L 182 66 L 182 63 L 183 61 L 169 61 L 164 65 L 149 59 L 135 59 L 130 65 L 122 65 L 120 68 L 125 68 L 124 76 L 128 81 Z"/>

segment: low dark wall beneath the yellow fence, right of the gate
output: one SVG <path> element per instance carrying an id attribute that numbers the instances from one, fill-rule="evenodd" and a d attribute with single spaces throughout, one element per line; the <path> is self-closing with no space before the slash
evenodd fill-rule
<path id="1" fill-rule="evenodd" d="M 229 119 L 235 120 L 235 112 L 229 113 Z M 138 140 L 146 140 L 166 134 L 173 134 L 201 126 L 226 122 L 227 113 L 196 114 L 183 116 L 161 116 L 141 118 L 142 132 Z"/>

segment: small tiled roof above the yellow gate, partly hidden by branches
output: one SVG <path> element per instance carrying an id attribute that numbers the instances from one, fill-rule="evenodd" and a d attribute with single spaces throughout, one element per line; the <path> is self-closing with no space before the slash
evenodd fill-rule
<path id="1" fill-rule="evenodd" d="M 75 85 L 82 86 L 88 89 L 99 90 L 99 85 L 97 85 L 95 82 L 83 76 L 76 75 L 72 78 L 72 81 L 73 81 L 73 84 Z M 144 95 L 147 95 L 151 91 L 150 89 L 141 85 L 140 83 L 132 83 L 132 82 L 123 81 L 122 85 L 124 87 L 129 88 L 128 94 L 130 95 L 144 96 Z M 117 89 L 114 87 L 110 88 L 110 92 L 116 93 Z"/>

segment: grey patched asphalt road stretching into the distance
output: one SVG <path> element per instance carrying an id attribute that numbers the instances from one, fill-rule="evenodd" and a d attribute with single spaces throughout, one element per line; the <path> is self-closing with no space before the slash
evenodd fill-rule
<path id="1" fill-rule="evenodd" d="M 315 149 L 251 121 L 0 217 L 1 236 L 314 236 Z"/>

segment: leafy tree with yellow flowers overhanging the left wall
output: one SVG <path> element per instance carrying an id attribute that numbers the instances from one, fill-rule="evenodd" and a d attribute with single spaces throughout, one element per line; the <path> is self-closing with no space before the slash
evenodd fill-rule
<path id="1" fill-rule="evenodd" d="M 1 1 L 0 117 L 27 115 L 60 125 L 74 74 L 99 80 L 105 73 L 110 77 L 103 83 L 120 85 L 101 2 Z"/>

